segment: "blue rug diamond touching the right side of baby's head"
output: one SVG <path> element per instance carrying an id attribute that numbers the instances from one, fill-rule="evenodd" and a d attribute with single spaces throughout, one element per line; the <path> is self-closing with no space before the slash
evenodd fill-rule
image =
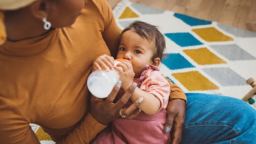
<path id="1" fill-rule="evenodd" d="M 163 64 L 166 65 L 166 67 L 168 67 L 170 70 L 195 67 L 181 54 L 169 54 L 169 56 L 164 59 Z"/>

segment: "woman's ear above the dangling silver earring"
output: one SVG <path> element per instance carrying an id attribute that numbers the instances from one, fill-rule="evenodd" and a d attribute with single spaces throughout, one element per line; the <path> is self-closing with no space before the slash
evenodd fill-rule
<path id="1" fill-rule="evenodd" d="M 31 4 L 30 9 L 34 17 L 43 19 L 44 17 L 47 18 L 48 16 L 47 7 L 48 4 L 45 0 L 36 0 L 33 4 Z"/>

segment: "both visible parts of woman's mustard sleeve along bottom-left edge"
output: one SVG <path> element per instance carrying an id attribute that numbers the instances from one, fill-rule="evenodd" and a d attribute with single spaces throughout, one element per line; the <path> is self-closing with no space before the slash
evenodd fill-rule
<path id="1" fill-rule="evenodd" d="M 0 112 L 0 139 L 3 144 L 40 144 L 29 126 L 30 122 L 2 99 Z M 104 128 L 106 126 L 97 122 L 89 113 L 77 128 L 57 144 L 88 144 Z"/>

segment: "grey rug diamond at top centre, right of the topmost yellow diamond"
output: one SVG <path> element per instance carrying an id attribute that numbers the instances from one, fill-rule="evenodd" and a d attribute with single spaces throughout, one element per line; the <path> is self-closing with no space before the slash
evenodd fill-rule
<path id="1" fill-rule="evenodd" d="M 132 7 L 134 7 L 141 14 L 161 14 L 164 13 L 163 10 L 155 9 L 153 7 L 148 7 L 146 5 L 132 3 Z"/>

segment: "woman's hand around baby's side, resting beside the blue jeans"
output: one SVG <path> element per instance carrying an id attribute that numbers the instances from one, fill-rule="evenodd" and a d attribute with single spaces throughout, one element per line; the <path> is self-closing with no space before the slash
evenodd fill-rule
<path id="1" fill-rule="evenodd" d="M 172 130 L 172 144 L 179 144 L 186 118 L 186 102 L 183 99 L 172 99 L 167 107 L 167 120 L 164 131 Z"/>

